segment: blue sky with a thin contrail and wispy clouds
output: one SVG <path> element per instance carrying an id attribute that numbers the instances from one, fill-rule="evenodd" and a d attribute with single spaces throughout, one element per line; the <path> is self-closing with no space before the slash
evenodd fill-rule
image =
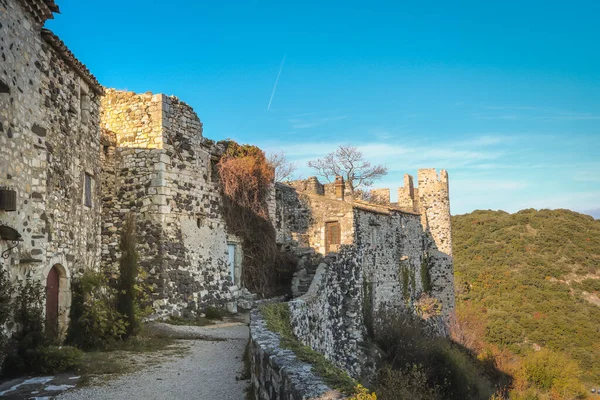
<path id="1" fill-rule="evenodd" d="M 176 95 L 206 137 L 283 150 L 303 177 L 352 144 L 389 167 L 381 187 L 447 169 L 454 214 L 600 217 L 597 1 L 58 4 L 47 27 L 103 85 Z"/>

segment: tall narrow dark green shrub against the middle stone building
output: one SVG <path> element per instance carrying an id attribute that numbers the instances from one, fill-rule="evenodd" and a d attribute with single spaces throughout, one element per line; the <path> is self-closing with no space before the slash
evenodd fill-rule
<path id="1" fill-rule="evenodd" d="M 139 290 L 136 287 L 138 278 L 136 242 L 135 217 L 133 214 L 129 214 L 121 232 L 119 244 L 121 259 L 119 260 L 119 278 L 117 280 L 117 310 L 127 321 L 126 337 L 135 335 L 140 327 L 137 302 Z"/>

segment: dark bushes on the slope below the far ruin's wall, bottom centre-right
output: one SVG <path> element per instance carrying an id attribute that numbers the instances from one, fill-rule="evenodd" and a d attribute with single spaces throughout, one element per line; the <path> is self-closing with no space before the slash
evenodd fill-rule
<path id="1" fill-rule="evenodd" d="M 375 391 L 381 399 L 488 399 L 482 363 L 445 338 L 432 338 L 412 314 L 377 315 L 375 343 L 385 357 Z M 394 393 L 401 397 L 394 397 Z"/>

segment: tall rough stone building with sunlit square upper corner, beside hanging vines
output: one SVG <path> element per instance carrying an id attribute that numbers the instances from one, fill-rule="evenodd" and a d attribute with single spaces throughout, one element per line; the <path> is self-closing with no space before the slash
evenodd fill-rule
<path id="1" fill-rule="evenodd" d="M 175 97 L 108 90 L 102 125 L 113 144 L 103 161 L 106 266 L 116 268 L 120 226 L 133 212 L 157 314 L 232 302 L 228 242 L 239 241 L 228 240 L 213 173 L 223 149 L 202 137 L 196 113 Z"/>

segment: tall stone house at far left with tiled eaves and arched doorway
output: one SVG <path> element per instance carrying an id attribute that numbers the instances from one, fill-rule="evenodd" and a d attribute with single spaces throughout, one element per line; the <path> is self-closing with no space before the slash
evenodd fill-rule
<path id="1" fill-rule="evenodd" d="M 46 283 L 48 321 L 64 330 L 71 276 L 100 262 L 103 90 L 42 28 L 56 12 L 0 0 L 0 260 Z"/>

